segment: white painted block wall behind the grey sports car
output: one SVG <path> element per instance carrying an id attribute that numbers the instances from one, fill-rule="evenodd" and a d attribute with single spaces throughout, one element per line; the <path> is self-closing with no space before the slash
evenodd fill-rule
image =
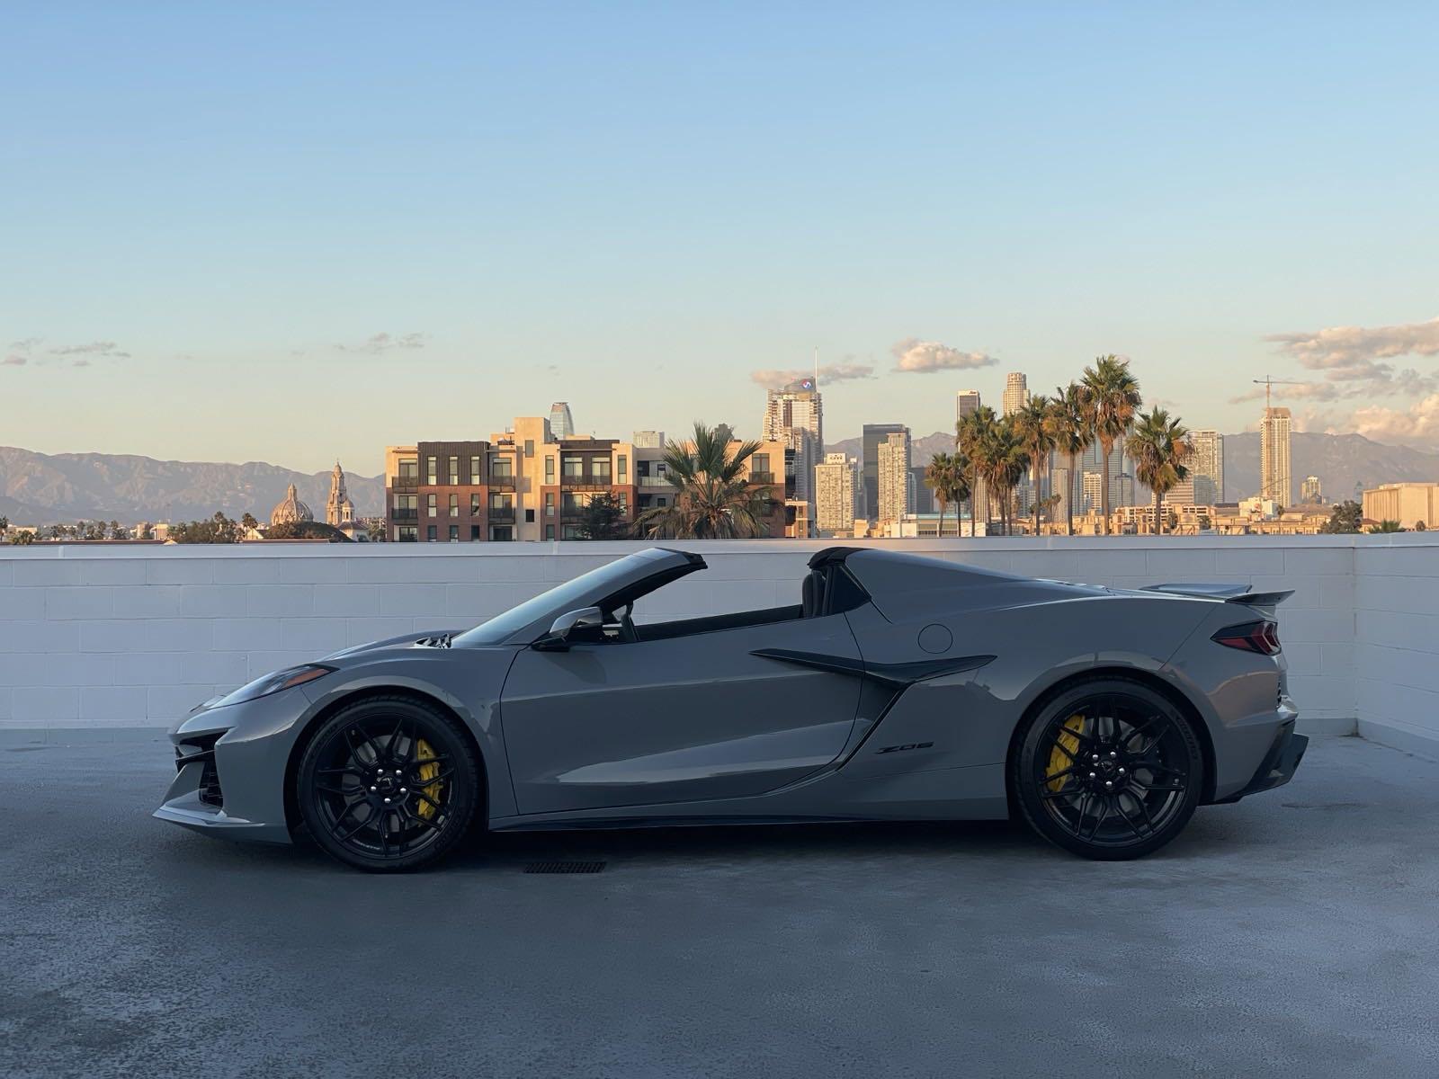
<path id="1" fill-rule="evenodd" d="M 825 542 L 685 544 L 709 570 L 652 617 L 799 601 Z M 1281 611 L 1311 729 L 1354 718 L 1439 745 L 1439 538 L 1114 537 L 873 545 L 1124 587 L 1294 588 Z M 0 727 L 164 725 L 266 670 L 413 630 L 459 629 L 635 544 L 0 547 Z"/>

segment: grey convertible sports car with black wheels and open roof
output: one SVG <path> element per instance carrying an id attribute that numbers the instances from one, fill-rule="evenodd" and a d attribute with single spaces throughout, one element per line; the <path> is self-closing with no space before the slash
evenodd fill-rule
<path id="1" fill-rule="evenodd" d="M 157 817 L 410 869 L 494 830 L 1017 813 L 1095 859 L 1289 780 L 1289 593 L 1030 580 L 832 547 L 803 601 L 679 622 L 652 548 L 463 633 L 279 670 L 171 732 Z M 640 616 L 636 619 L 636 610 Z"/>

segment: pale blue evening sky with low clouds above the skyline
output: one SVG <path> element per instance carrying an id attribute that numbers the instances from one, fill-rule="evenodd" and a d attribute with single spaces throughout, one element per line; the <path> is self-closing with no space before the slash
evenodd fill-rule
<path id="1" fill-rule="evenodd" d="M 1127 357 L 1439 449 L 1433 4 L 0 7 L 0 445 L 826 436 Z"/>

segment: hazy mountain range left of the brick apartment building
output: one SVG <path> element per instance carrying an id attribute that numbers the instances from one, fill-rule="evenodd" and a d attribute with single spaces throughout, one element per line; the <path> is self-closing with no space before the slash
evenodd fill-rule
<path id="1" fill-rule="evenodd" d="M 324 519 L 330 473 L 263 462 L 223 465 L 114 453 L 33 453 L 0 446 L 0 516 L 12 524 L 193 521 L 223 511 L 265 519 L 294 483 Z M 345 473 L 357 516 L 384 512 L 384 478 Z"/>

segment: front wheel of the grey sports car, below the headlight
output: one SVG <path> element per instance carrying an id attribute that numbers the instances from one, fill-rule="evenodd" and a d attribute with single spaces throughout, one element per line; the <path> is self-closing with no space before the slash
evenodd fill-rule
<path id="1" fill-rule="evenodd" d="M 481 773 L 459 725 L 406 696 L 347 705 L 311 737 L 296 771 L 305 827 L 355 869 L 437 862 L 469 832 Z"/>

